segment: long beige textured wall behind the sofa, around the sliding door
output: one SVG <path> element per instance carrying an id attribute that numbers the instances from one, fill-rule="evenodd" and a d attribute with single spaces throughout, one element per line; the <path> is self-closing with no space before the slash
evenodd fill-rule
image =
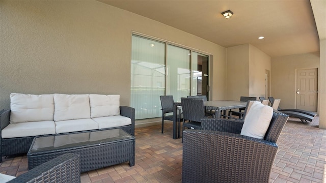
<path id="1" fill-rule="evenodd" d="M 0 1 L 0 108 L 10 93 L 120 94 L 130 104 L 132 31 L 211 54 L 213 100 L 225 97 L 226 49 L 97 1 Z"/>

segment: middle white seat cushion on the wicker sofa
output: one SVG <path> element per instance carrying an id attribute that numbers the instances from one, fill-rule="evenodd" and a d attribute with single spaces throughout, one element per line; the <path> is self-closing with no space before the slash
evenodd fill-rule
<path id="1" fill-rule="evenodd" d="M 91 118 L 55 121 L 55 124 L 57 134 L 98 129 L 97 123 Z"/>

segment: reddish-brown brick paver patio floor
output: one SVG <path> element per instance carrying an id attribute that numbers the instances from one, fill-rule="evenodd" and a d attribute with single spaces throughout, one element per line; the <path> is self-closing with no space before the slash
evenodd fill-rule
<path id="1" fill-rule="evenodd" d="M 326 181 L 326 130 L 290 118 L 278 140 L 278 153 L 269 182 Z M 182 143 L 172 138 L 172 123 L 135 129 L 135 166 L 122 163 L 82 173 L 82 182 L 181 182 Z M 18 176 L 28 169 L 25 155 L 7 157 L 0 173 Z"/>

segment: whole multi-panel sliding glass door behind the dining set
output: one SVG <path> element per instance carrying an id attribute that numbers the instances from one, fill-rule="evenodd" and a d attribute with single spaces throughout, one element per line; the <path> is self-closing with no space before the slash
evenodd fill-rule
<path id="1" fill-rule="evenodd" d="M 189 95 L 208 97 L 208 82 L 203 86 L 208 56 L 138 35 L 132 35 L 131 49 L 130 106 L 135 119 L 160 117 L 161 95 L 172 95 L 175 102 Z"/>

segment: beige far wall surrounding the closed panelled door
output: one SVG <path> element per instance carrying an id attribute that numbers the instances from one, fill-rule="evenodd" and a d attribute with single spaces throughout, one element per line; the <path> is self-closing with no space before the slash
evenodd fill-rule
<path id="1" fill-rule="evenodd" d="M 312 68 L 318 68 L 318 85 L 320 85 L 319 52 L 271 59 L 271 95 L 275 99 L 281 99 L 280 108 L 296 108 L 296 71 Z"/>

